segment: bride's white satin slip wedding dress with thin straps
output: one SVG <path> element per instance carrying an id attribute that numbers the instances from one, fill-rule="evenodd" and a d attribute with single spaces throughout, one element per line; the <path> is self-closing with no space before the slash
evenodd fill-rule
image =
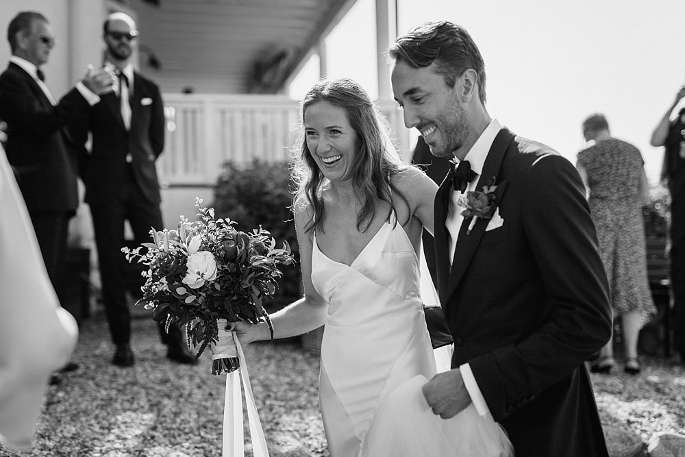
<path id="1" fill-rule="evenodd" d="M 503 457 L 506 433 L 473 405 L 444 420 L 421 386 L 436 374 L 419 260 L 399 223 L 384 223 L 348 266 L 313 240 L 312 283 L 328 302 L 319 395 L 332 457 Z"/>

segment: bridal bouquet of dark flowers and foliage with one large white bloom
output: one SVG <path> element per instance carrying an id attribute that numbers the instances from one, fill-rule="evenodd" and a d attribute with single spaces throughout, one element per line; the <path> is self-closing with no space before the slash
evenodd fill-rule
<path id="1" fill-rule="evenodd" d="M 181 217 L 177 230 L 150 231 L 153 243 L 136 249 L 123 248 L 127 260 L 147 267 L 142 275 L 143 304 L 153 319 L 169 325 L 185 325 L 188 347 L 198 347 L 199 357 L 208 345 L 216 349 L 219 324 L 266 321 L 273 326 L 262 304 L 273 297 L 281 265 L 295 262 L 284 242 L 276 247 L 271 234 L 260 226 L 240 232 L 230 219 L 215 219 L 214 208 L 199 208 L 198 221 Z M 141 253 L 142 251 L 142 253 Z M 214 353 L 212 374 L 238 369 L 237 354 Z"/>

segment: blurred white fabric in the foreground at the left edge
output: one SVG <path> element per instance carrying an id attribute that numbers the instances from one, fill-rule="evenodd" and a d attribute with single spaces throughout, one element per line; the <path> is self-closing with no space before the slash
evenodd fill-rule
<path id="1" fill-rule="evenodd" d="M 60 308 L 1 146 L 0 212 L 0 442 L 29 447 L 49 377 L 69 360 L 78 328 Z"/>

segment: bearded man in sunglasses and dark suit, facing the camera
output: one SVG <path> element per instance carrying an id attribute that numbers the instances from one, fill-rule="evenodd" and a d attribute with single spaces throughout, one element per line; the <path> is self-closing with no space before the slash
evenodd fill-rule
<path id="1" fill-rule="evenodd" d="M 131 314 L 125 295 L 124 223 L 136 244 L 149 241 L 151 227 L 162 230 L 160 185 L 155 160 L 164 149 L 164 106 L 157 84 L 134 71 L 131 56 L 138 40 L 136 23 L 124 13 L 110 14 L 103 25 L 105 66 L 119 77 L 119 90 L 105 95 L 72 128 L 79 145 L 86 203 L 90 206 L 99 258 L 102 293 L 112 341 L 112 363 L 134 365 Z M 85 147 L 88 132 L 92 149 Z M 160 325 L 167 357 L 192 364 L 180 330 Z"/>

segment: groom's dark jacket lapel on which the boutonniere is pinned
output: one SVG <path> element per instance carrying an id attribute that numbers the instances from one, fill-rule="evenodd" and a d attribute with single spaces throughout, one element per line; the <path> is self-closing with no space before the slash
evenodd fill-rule
<path id="1" fill-rule="evenodd" d="M 490 147 L 488 157 L 486 158 L 483 166 L 483 173 L 481 173 L 478 179 L 478 184 L 476 185 L 477 190 L 482 190 L 484 186 L 490 184 L 490 181 L 493 180 L 494 177 L 495 185 L 497 186 L 497 189 L 495 190 L 495 201 L 497 205 L 499 205 L 499 202 L 504 195 L 504 191 L 507 188 L 507 182 L 503 181 L 498 183 L 497 176 L 499 175 L 499 169 L 502 164 L 504 154 L 506 153 L 513 139 L 514 135 L 507 129 L 501 129 L 499 131 L 495 137 L 493 146 Z M 436 219 L 436 223 L 437 221 L 438 220 Z M 452 268 L 449 273 L 449 281 L 447 282 L 447 294 L 444 297 L 443 295 L 440 295 L 441 301 L 443 299 L 449 299 L 449 296 L 454 292 L 454 290 L 457 288 L 457 285 L 462 280 L 462 277 L 464 276 L 464 273 L 466 273 L 466 269 L 468 269 L 471 259 L 473 258 L 473 255 L 475 254 L 475 251 L 480 243 L 480 240 L 485 233 L 488 220 L 477 219 L 471 232 L 466 234 L 469 223 L 471 223 L 471 218 L 464 219 L 459 230 L 459 237 L 457 239 L 457 244 L 454 249 L 454 257 L 452 259 Z M 442 225 L 444 229 L 444 221 Z"/>

